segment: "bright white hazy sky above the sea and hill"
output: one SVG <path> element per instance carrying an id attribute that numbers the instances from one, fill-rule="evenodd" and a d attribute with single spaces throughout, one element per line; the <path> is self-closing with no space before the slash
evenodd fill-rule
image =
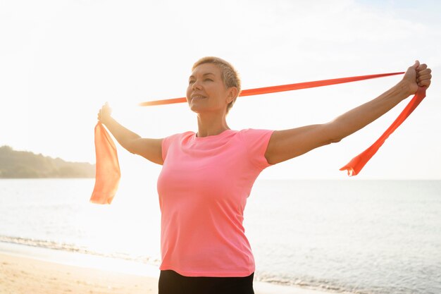
<path id="1" fill-rule="evenodd" d="M 230 61 L 242 88 L 433 70 L 426 99 L 359 179 L 441 179 L 440 1 L 0 1 L 0 146 L 94 163 L 94 125 L 113 117 L 142 137 L 197 131 L 185 96 L 194 61 Z M 377 97 L 401 76 L 243 97 L 232 129 L 326 123 Z M 406 100 L 409 101 L 409 100 Z M 340 167 L 370 146 L 404 108 L 342 142 L 272 166 L 262 178 L 347 178 Z M 123 177 L 160 166 L 118 145 Z"/>

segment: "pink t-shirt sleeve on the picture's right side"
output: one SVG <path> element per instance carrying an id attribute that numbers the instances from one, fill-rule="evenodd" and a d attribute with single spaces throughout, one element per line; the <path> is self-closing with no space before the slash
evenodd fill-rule
<path id="1" fill-rule="evenodd" d="M 274 130 L 257 130 L 252 128 L 240 131 L 244 145 L 247 148 L 249 160 L 259 169 L 266 169 L 272 165 L 268 164 L 265 152 L 273 132 Z"/>

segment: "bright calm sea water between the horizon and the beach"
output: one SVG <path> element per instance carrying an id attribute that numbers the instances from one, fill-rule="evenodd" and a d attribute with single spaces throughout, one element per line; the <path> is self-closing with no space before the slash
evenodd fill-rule
<path id="1" fill-rule="evenodd" d="M 154 181 L 111 205 L 93 179 L 0 180 L 0 242 L 159 265 Z M 441 293 L 441 180 L 258 180 L 245 210 L 256 279 L 336 292 Z"/>

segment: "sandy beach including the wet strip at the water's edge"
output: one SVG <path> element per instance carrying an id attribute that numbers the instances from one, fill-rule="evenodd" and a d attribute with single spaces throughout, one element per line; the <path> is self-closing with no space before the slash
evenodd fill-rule
<path id="1" fill-rule="evenodd" d="M 158 267 L 123 259 L 0 243 L 0 294 L 158 293 Z M 254 281 L 256 294 L 329 294 Z"/>

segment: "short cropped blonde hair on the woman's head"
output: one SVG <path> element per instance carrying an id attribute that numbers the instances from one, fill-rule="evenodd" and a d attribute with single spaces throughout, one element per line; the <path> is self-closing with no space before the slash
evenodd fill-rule
<path id="1" fill-rule="evenodd" d="M 193 64 L 192 71 L 194 71 L 194 68 L 197 68 L 204 63 L 213 63 L 214 65 L 218 66 L 218 68 L 221 70 L 221 76 L 225 87 L 227 89 L 230 87 L 237 87 L 237 96 L 239 96 L 241 90 L 239 73 L 237 73 L 236 69 L 228 61 L 214 56 L 202 57 Z M 227 105 L 227 114 L 228 111 L 230 111 L 232 104 L 235 104 L 237 96 Z"/>

